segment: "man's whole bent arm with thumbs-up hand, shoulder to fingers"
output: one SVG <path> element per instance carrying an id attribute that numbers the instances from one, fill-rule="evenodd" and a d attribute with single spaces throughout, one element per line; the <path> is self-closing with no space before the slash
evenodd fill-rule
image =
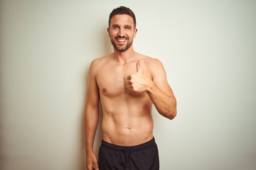
<path id="1" fill-rule="evenodd" d="M 143 74 L 141 61 L 137 62 L 137 73 L 127 77 L 128 84 L 133 91 L 146 93 L 154 103 L 156 110 L 166 118 L 174 119 L 176 116 L 176 98 L 166 79 L 166 72 L 159 60 L 152 59 L 149 65 L 152 79 Z"/>

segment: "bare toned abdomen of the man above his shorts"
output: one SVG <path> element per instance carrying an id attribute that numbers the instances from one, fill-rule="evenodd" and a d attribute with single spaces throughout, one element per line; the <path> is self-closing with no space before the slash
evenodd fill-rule
<path id="1" fill-rule="evenodd" d="M 152 139 L 151 100 L 140 98 L 127 102 L 112 98 L 102 103 L 105 103 L 102 105 L 103 140 L 115 145 L 134 146 Z"/>

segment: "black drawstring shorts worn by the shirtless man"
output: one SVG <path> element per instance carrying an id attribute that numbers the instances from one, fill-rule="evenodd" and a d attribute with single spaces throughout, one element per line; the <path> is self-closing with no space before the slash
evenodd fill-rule
<path id="1" fill-rule="evenodd" d="M 133 147 L 113 145 L 102 140 L 98 164 L 100 170 L 159 170 L 159 153 L 154 137 Z"/>

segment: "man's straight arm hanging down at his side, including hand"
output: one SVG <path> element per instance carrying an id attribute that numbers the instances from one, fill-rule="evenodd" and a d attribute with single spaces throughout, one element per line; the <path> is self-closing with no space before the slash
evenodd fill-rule
<path id="1" fill-rule="evenodd" d="M 97 158 L 93 152 L 95 132 L 99 120 L 99 89 L 96 81 L 95 61 L 92 61 L 89 69 L 89 84 L 87 87 L 87 103 L 85 106 L 85 142 L 86 142 L 86 167 L 92 170 L 92 165 L 98 169 Z"/>

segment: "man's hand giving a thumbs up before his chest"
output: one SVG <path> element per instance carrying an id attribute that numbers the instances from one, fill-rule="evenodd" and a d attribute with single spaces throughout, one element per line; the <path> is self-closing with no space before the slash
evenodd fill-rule
<path id="1" fill-rule="evenodd" d="M 137 72 L 127 77 L 127 84 L 134 92 L 142 93 L 146 91 L 152 83 L 142 72 L 141 60 L 137 62 Z"/>

